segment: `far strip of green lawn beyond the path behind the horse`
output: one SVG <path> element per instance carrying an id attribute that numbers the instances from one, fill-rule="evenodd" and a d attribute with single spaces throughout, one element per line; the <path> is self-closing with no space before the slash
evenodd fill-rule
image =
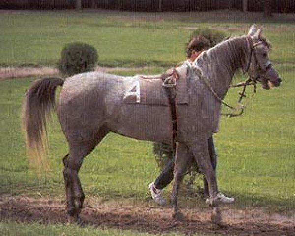
<path id="1" fill-rule="evenodd" d="M 266 36 L 275 45 L 274 61 L 294 63 L 292 19 L 276 16 L 273 22 L 264 22 L 260 14 L 235 12 L 219 12 L 218 16 L 216 13 L 1 11 L 0 65 L 55 66 L 65 44 L 85 41 L 97 50 L 100 65 L 167 67 L 183 61 L 184 43 L 192 29 L 226 29 L 231 36 L 246 34 L 252 23 L 265 26 Z M 282 27 L 284 40 L 278 33 Z"/>

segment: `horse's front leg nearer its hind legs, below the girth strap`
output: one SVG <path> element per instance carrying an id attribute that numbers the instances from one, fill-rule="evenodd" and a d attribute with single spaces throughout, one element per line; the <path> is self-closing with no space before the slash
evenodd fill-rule
<path id="1" fill-rule="evenodd" d="M 185 174 L 185 170 L 187 168 L 187 165 L 191 162 L 191 156 L 189 155 L 189 152 L 187 148 L 181 144 L 177 143 L 177 149 L 176 149 L 176 156 L 174 161 L 174 170 L 173 170 L 173 176 L 174 176 L 174 182 L 173 182 L 173 188 L 170 195 L 170 203 L 173 208 L 172 212 L 172 218 L 175 220 L 183 220 L 184 216 L 180 212 L 178 208 L 178 194 L 180 185 L 183 179 L 183 176 Z"/>

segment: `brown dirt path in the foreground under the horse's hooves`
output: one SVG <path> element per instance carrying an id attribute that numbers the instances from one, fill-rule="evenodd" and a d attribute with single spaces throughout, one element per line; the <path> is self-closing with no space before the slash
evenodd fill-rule
<path id="1" fill-rule="evenodd" d="M 66 223 L 63 200 L 0 196 L 0 220 Z M 187 220 L 173 221 L 169 206 L 143 203 L 140 206 L 86 200 L 81 217 L 96 227 L 137 230 L 153 234 L 181 232 L 185 235 L 221 234 L 225 236 L 295 236 L 295 217 L 267 215 L 258 210 L 222 210 L 224 229 L 210 222 L 209 207 L 200 210 L 182 207 Z"/>

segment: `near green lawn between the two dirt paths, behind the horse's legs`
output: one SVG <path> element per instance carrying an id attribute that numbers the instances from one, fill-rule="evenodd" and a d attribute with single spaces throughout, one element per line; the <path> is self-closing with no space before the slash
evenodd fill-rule
<path id="1" fill-rule="evenodd" d="M 259 89 L 241 117 L 221 120 L 220 132 L 215 135 L 218 180 L 221 190 L 236 197 L 236 207 L 295 210 L 292 75 L 281 73 L 284 81 L 280 88 Z M 36 176 L 25 156 L 19 115 L 22 95 L 34 79 L 1 81 L 0 192 L 62 197 L 61 159 L 68 147 L 56 116 L 48 123 L 50 171 Z M 235 101 L 235 92 L 229 92 L 229 102 Z M 147 201 L 147 185 L 158 173 L 151 147 L 150 142 L 109 134 L 80 169 L 86 195 Z"/>

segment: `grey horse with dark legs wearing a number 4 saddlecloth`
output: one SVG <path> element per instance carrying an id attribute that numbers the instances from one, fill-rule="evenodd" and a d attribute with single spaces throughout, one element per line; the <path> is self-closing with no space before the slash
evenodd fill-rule
<path id="1" fill-rule="evenodd" d="M 207 140 L 218 130 L 220 100 L 236 70 L 247 72 L 264 89 L 280 85 L 281 79 L 268 58 L 271 46 L 261 34 L 262 28 L 256 32 L 252 26 L 248 35 L 222 41 L 200 56 L 195 66 L 187 68 L 188 103 L 177 106 L 178 142 L 170 197 L 175 219 L 183 217 L 177 206 L 179 187 L 188 163 L 195 158 L 208 181 L 211 219 L 222 226 Z M 71 220 L 79 221 L 84 201 L 78 170 L 83 159 L 110 131 L 140 140 L 171 140 L 169 107 L 126 104 L 129 80 L 98 72 L 81 73 L 65 80 L 44 78 L 35 81 L 25 95 L 22 125 L 31 158 L 38 159 L 46 146 L 46 118 L 56 107 L 55 91 L 62 86 L 57 114 L 69 144 L 69 153 L 63 158 L 63 175 Z M 127 89 L 127 95 L 137 99 L 136 86 L 135 91 Z"/>

